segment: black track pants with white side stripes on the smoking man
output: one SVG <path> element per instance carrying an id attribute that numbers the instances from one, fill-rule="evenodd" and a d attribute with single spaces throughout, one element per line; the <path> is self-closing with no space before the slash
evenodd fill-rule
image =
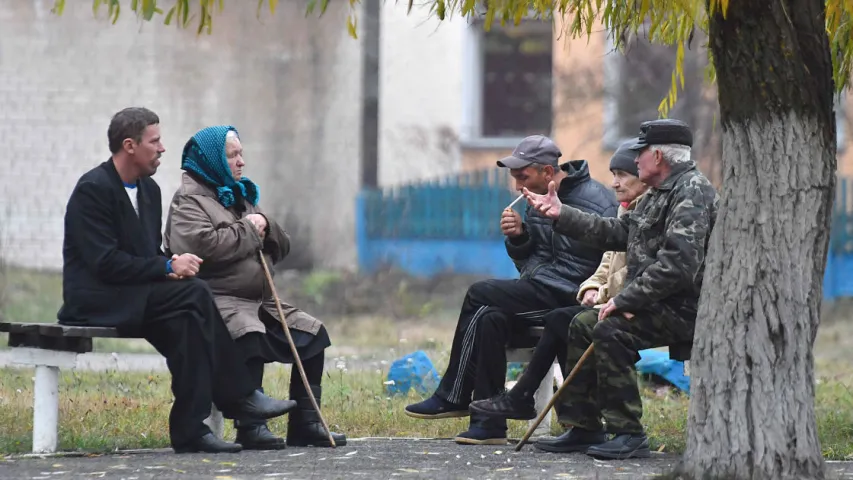
<path id="1" fill-rule="evenodd" d="M 455 404 L 500 393 L 506 380 L 506 345 L 516 333 L 542 325 L 555 308 L 574 298 L 527 279 L 485 280 L 468 289 L 462 302 L 450 361 L 436 394 Z"/>

